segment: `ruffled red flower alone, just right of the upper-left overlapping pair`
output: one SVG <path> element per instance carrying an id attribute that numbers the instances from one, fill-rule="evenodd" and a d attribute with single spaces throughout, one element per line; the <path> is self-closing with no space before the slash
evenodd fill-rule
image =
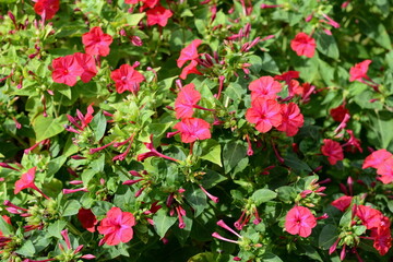
<path id="1" fill-rule="evenodd" d="M 110 73 L 110 78 L 115 81 L 116 91 L 121 94 L 124 91 L 138 93 L 140 83 L 144 81 L 143 74 L 134 70 L 130 64 L 122 64 L 119 69 Z"/>

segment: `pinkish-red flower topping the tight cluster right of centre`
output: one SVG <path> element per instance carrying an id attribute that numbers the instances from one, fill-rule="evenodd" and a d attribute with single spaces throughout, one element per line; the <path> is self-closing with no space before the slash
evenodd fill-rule
<path id="1" fill-rule="evenodd" d="M 262 76 L 250 83 L 249 90 L 251 91 L 251 99 L 262 97 L 265 99 L 275 99 L 277 93 L 282 91 L 282 85 L 274 81 L 272 76 Z"/>

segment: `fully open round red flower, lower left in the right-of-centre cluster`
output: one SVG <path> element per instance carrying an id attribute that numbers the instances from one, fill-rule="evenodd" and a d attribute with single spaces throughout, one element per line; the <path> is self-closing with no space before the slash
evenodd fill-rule
<path id="1" fill-rule="evenodd" d="M 266 133 L 272 127 L 282 124 L 281 106 L 276 100 L 258 97 L 251 102 L 251 108 L 247 109 L 246 119 L 255 123 L 255 129 Z"/>

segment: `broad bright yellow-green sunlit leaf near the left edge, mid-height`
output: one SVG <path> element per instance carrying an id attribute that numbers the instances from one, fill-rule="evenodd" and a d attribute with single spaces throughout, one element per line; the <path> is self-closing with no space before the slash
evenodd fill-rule
<path id="1" fill-rule="evenodd" d="M 58 133 L 61 133 L 64 130 L 64 124 L 67 124 L 66 115 L 62 115 L 59 118 L 44 117 L 39 115 L 33 121 L 33 129 L 36 133 L 37 142 L 55 136 Z"/>

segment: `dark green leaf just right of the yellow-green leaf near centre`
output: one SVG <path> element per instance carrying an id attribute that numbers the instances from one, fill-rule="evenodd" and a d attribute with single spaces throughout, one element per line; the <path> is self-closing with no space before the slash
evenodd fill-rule
<path id="1" fill-rule="evenodd" d="M 238 163 L 246 157 L 247 146 L 242 141 L 230 141 L 223 151 L 224 168 L 228 174 Z"/>

